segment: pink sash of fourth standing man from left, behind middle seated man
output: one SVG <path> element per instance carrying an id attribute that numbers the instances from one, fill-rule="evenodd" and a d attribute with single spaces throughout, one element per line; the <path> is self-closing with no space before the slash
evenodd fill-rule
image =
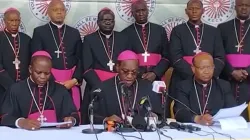
<path id="1" fill-rule="evenodd" d="M 144 56 L 142 56 L 143 53 L 137 54 L 140 66 L 156 66 L 160 62 L 161 60 L 160 54 L 155 54 L 155 53 L 149 53 L 149 54 L 150 56 L 148 56 L 147 62 L 144 62 Z"/>

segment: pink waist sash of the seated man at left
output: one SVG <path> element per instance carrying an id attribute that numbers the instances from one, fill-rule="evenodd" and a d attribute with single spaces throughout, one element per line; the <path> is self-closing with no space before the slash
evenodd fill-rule
<path id="1" fill-rule="evenodd" d="M 55 110 L 44 110 L 43 116 L 46 118 L 45 122 L 57 122 Z M 35 112 L 29 114 L 28 118 L 32 120 L 37 120 L 38 118 L 40 118 L 40 113 Z"/>

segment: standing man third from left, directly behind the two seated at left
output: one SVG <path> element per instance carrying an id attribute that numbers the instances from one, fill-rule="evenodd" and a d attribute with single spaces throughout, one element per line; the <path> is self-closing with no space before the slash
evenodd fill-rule
<path id="1" fill-rule="evenodd" d="M 90 102 L 91 89 L 101 82 L 116 75 L 114 63 L 117 57 L 126 48 L 129 48 L 127 37 L 120 32 L 114 31 L 115 14 L 109 8 L 103 8 L 97 16 L 99 30 L 84 37 L 82 61 L 84 74 L 87 82 L 83 98 L 82 114 L 88 123 L 88 104 Z"/>

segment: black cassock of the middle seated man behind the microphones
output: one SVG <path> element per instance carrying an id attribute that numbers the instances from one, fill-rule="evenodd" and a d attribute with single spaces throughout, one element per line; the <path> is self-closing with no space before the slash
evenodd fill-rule
<path id="1" fill-rule="evenodd" d="M 122 118 L 122 114 L 133 115 L 133 111 L 145 116 L 146 110 L 139 105 L 139 102 L 142 97 L 146 96 L 150 98 L 152 111 L 162 115 L 160 96 L 152 91 L 152 84 L 149 81 L 138 79 L 130 87 L 124 88 L 124 92 L 128 95 L 124 98 L 119 82 L 118 76 L 113 77 L 104 81 L 100 88 L 93 91 L 93 94 L 99 95 L 99 100 L 95 104 L 95 123 L 103 123 L 104 118 L 112 115 L 117 115 L 120 118 Z"/>

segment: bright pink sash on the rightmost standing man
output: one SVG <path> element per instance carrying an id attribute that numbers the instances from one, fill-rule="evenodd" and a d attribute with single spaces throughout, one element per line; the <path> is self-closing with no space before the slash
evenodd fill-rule
<path id="1" fill-rule="evenodd" d="M 246 68 L 250 66 L 250 55 L 248 54 L 228 54 L 226 58 L 228 63 L 234 68 Z"/>

